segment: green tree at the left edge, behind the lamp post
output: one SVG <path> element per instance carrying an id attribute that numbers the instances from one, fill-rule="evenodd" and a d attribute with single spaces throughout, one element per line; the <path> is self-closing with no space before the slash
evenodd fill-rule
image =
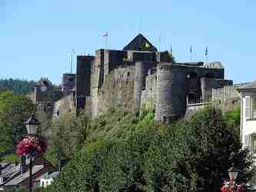
<path id="1" fill-rule="evenodd" d="M 15 151 L 15 145 L 26 133 L 25 121 L 35 112 L 35 104 L 21 94 L 0 93 L 0 154 Z"/>

